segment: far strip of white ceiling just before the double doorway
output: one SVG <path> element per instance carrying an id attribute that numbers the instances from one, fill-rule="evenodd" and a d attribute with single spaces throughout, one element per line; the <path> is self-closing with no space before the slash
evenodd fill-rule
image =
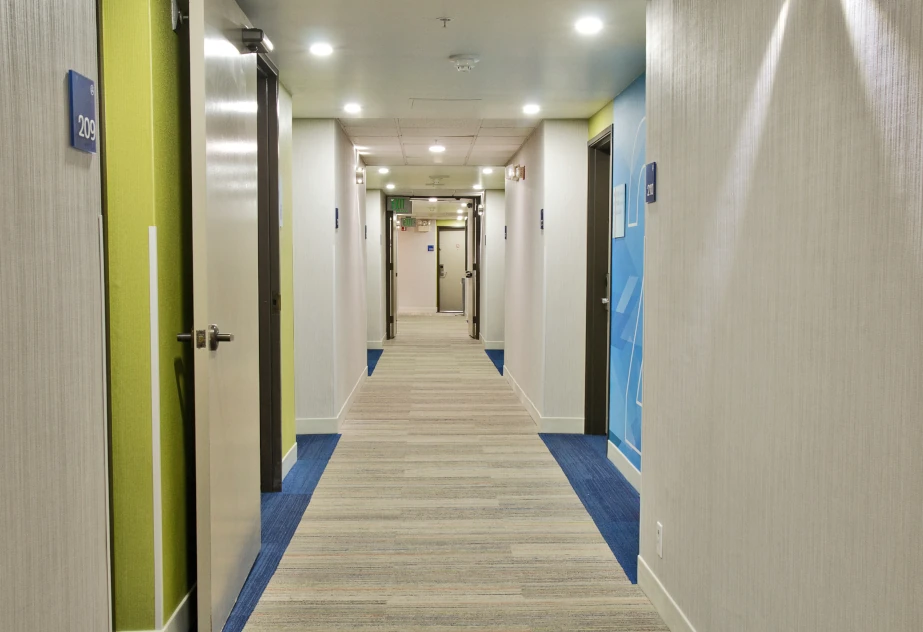
<path id="1" fill-rule="evenodd" d="M 389 195 L 408 195 L 419 197 L 463 197 L 480 193 L 475 185 L 484 189 L 502 190 L 505 186 L 503 167 L 495 167 L 494 172 L 485 175 L 477 167 L 447 167 L 443 165 L 416 167 L 389 167 L 390 173 L 378 173 L 379 167 L 366 167 L 366 187 L 368 189 L 385 189 L 393 184 Z"/>

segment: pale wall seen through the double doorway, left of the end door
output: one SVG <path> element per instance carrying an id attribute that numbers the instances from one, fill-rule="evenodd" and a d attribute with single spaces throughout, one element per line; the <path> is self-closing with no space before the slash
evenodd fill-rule
<path id="1" fill-rule="evenodd" d="M 436 313 L 436 252 L 429 252 L 428 246 L 436 245 L 436 223 L 429 232 L 421 233 L 416 228 L 396 230 L 398 314 Z"/>

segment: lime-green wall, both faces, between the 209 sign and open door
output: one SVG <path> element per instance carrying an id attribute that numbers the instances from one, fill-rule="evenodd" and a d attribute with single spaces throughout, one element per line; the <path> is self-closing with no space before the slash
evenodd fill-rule
<path id="1" fill-rule="evenodd" d="M 195 582 L 191 194 L 185 36 L 170 0 L 100 5 L 116 630 L 153 629 L 154 495 L 148 229 L 157 227 L 163 595 Z"/>

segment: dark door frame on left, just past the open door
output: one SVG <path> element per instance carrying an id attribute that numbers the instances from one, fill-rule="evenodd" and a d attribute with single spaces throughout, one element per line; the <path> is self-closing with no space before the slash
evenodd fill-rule
<path id="1" fill-rule="evenodd" d="M 282 491 L 282 295 L 279 282 L 279 71 L 257 61 L 260 277 L 260 489 Z"/>

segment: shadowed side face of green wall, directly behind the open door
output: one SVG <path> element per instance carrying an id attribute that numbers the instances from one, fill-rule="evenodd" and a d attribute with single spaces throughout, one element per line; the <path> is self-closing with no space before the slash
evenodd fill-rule
<path id="1" fill-rule="evenodd" d="M 138 4 L 149 4 L 151 15 L 163 620 L 167 621 L 192 589 L 196 572 L 193 350 L 176 341 L 176 334 L 192 329 L 193 321 L 189 55 L 187 33 L 173 32 L 170 0 Z"/>

